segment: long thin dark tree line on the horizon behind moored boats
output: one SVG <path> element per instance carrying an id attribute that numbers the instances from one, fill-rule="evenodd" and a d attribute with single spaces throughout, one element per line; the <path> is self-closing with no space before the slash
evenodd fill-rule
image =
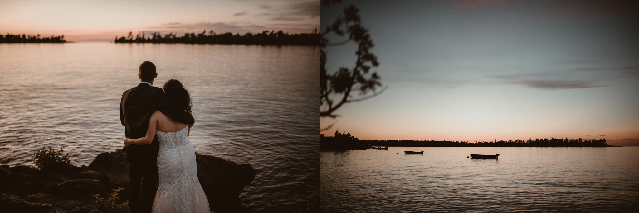
<path id="1" fill-rule="evenodd" d="M 321 140 L 320 140 L 321 141 Z M 468 143 L 449 140 L 364 140 L 371 146 L 389 147 L 611 147 L 606 143 L 606 138 L 581 140 L 568 138 L 543 138 L 528 140 L 495 140 L 494 142 Z"/>

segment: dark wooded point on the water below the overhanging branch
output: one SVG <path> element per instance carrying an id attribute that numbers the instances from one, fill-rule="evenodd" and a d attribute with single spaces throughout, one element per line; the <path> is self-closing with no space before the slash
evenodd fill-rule
<path id="1" fill-rule="evenodd" d="M 319 135 L 320 150 L 366 150 L 368 148 L 368 143 L 362 142 L 346 131 L 339 133 L 339 130 L 335 129 L 334 136 Z"/>

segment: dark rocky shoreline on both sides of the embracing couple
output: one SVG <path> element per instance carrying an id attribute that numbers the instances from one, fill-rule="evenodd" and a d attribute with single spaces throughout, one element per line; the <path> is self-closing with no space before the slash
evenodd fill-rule
<path id="1" fill-rule="evenodd" d="M 240 193 L 255 177 L 250 164 L 238 165 L 215 156 L 196 154 L 197 178 L 212 211 L 241 212 Z M 0 165 L 2 212 L 100 212 L 95 198 L 122 187 L 128 200 L 128 164 L 121 150 L 98 155 L 89 166 L 66 165 L 47 172 L 31 166 Z"/>

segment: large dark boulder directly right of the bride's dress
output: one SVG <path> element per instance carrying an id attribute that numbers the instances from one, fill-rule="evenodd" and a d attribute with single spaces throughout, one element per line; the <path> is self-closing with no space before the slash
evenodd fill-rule
<path id="1" fill-rule="evenodd" d="M 202 154 L 196 155 L 196 161 L 197 179 L 211 210 L 237 212 L 242 209 L 240 193 L 255 178 L 253 167 Z"/>

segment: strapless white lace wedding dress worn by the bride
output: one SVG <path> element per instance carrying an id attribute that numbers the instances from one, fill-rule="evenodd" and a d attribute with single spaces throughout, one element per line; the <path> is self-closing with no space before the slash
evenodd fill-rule
<path id="1" fill-rule="evenodd" d="M 186 127 L 175 133 L 157 131 L 159 186 L 152 212 L 210 212 L 197 180 L 196 152 L 188 131 Z"/>

